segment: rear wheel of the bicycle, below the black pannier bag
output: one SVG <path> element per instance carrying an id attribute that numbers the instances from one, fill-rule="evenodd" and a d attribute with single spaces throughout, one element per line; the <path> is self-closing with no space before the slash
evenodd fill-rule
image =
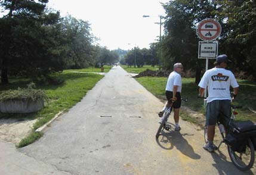
<path id="1" fill-rule="evenodd" d="M 248 139 L 248 143 L 246 144 L 246 149 L 244 152 L 239 153 L 233 151 L 230 146 L 227 146 L 227 150 L 229 151 L 229 157 L 233 164 L 242 171 L 249 170 L 252 165 L 254 165 L 254 145 L 252 144 L 252 140 Z"/>

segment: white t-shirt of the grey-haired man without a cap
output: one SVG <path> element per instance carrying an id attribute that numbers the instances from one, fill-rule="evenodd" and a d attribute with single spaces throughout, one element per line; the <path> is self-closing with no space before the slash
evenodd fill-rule
<path id="1" fill-rule="evenodd" d="M 172 73 L 169 74 L 165 90 L 172 91 L 173 86 L 178 86 L 177 92 L 181 92 L 182 82 L 181 82 L 181 76 L 179 73 L 172 71 Z"/>

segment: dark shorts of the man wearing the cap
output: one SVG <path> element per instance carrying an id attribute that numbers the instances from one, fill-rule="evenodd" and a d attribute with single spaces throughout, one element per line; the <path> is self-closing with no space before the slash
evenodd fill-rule
<path id="1" fill-rule="evenodd" d="M 206 104 L 206 125 L 215 125 L 220 121 L 226 128 L 229 126 L 231 116 L 231 101 L 214 100 Z"/>

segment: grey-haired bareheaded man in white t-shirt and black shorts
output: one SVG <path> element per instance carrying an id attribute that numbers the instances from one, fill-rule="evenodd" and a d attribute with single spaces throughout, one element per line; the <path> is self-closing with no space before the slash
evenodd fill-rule
<path id="1" fill-rule="evenodd" d="M 174 121 L 175 121 L 175 131 L 181 130 L 180 125 L 178 124 L 179 121 L 179 113 L 180 113 L 180 106 L 181 106 L 181 75 L 180 73 L 183 71 L 183 65 L 178 62 L 174 64 L 173 67 L 174 71 L 169 74 L 166 87 L 165 87 L 165 95 L 167 102 L 162 109 L 162 111 L 159 112 L 159 117 L 162 117 L 166 107 L 168 105 L 172 104 L 172 108 L 174 109 Z"/>

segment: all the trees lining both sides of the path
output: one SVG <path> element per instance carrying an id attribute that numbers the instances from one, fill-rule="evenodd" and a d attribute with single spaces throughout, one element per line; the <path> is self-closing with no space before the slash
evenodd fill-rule
<path id="1" fill-rule="evenodd" d="M 230 70 L 255 79 L 256 71 L 256 5 L 245 1 L 177 0 L 162 4 L 166 15 L 164 36 L 150 48 L 134 47 L 131 51 L 110 51 L 96 44 L 88 21 L 72 16 L 60 17 L 58 11 L 46 9 L 47 0 L 0 0 L 1 83 L 8 76 L 32 79 L 64 69 L 99 67 L 119 61 L 141 67 L 159 65 L 171 70 L 182 62 L 186 70 L 196 72 L 199 81 L 205 60 L 198 59 L 196 27 L 205 18 L 214 18 L 222 27 L 218 54 L 227 54 Z M 125 42 L 125 41 L 124 41 Z M 214 60 L 209 62 L 212 67 Z"/>

